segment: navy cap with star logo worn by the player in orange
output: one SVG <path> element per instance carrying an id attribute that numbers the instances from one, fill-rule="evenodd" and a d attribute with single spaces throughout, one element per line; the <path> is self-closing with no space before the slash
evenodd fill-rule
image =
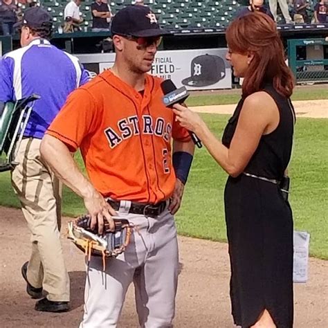
<path id="1" fill-rule="evenodd" d="M 127 6 L 113 17 L 111 34 L 131 37 L 160 37 L 171 33 L 159 26 L 156 15 L 149 7 Z"/>

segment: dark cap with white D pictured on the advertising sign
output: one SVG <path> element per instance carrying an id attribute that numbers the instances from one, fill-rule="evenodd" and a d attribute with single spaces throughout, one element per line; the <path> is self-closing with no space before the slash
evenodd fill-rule
<path id="1" fill-rule="evenodd" d="M 191 62 L 191 76 L 181 81 L 187 86 L 208 86 L 226 76 L 226 64 L 216 55 L 199 55 Z"/>

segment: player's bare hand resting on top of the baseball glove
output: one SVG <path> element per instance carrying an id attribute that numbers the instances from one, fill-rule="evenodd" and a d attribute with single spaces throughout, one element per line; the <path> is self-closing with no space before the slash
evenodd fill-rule
<path id="1" fill-rule="evenodd" d="M 109 223 L 109 229 L 111 231 L 115 230 L 114 221 L 111 216 L 116 216 L 117 213 L 113 208 L 104 200 L 102 195 L 94 190 L 89 197 L 84 197 L 84 206 L 86 210 L 91 215 L 91 229 L 95 228 L 98 223 L 98 233 L 102 235 L 104 230 L 104 220 Z"/>

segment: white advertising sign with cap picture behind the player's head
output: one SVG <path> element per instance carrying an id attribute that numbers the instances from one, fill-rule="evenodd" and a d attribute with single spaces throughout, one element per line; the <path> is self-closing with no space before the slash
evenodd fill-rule
<path id="1" fill-rule="evenodd" d="M 188 90 L 231 89 L 231 67 L 226 61 L 226 51 L 226 48 L 158 51 L 149 73 L 170 79 L 178 88 L 185 86 Z M 94 73 L 110 69 L 115 60 L 115 53 L 77 56 L 84 67 Z"/>

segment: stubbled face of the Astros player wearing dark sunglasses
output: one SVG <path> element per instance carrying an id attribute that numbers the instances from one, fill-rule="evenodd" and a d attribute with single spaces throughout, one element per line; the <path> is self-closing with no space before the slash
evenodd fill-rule
<path id="1" fill-rule="evenodd" d="M 124 37 L 122 55 L 129 69 L 136 73 L 147 73 L 152 69 L 161 37 Z"/>

